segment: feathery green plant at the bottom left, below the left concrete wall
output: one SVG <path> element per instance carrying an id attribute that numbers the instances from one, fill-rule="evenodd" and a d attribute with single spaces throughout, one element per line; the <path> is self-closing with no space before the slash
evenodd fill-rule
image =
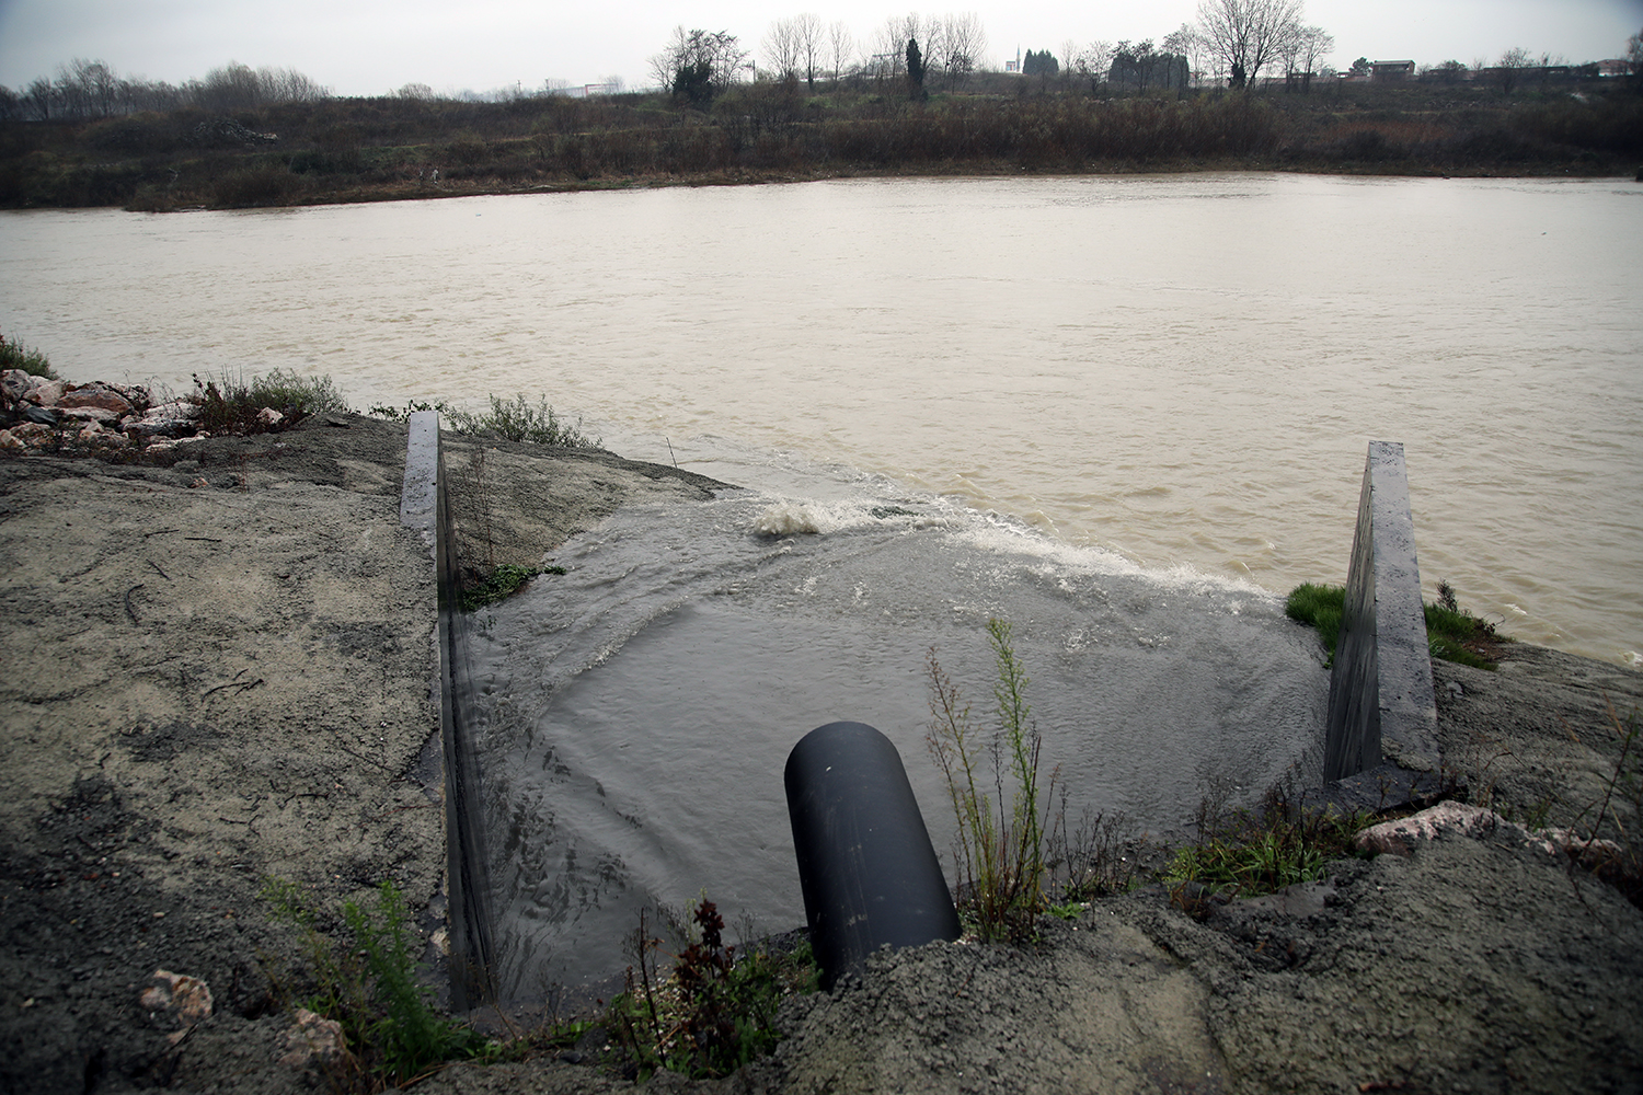
<path id="1" fill-rule="evenodd" d="M 296 883 L 271 878 L 263 896 L 302 931 L 302 949 L 317 992 L 307 1010 L 342 1024 L 340 1059 L 327 1064 L 337 1090 L 375 1092 L 406 1085 L 445 1061 L 475 1057 L 490 1041 L 440 1015 L 432 990 L 416 978 L 414 932 L 404 896 L 393 882 L 378 888 L 376 908 L 342 906 L 352 946 L 338 947 L 317 929 L 317 914 Z"/>

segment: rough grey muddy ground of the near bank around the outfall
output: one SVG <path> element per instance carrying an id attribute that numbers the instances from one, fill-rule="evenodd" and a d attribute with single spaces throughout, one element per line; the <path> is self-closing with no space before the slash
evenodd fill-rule
<path id="1" fill-rule="evenodd" d="M 266 877 L 329 909 L 393 880 L 437 960 L 435 591 L 403 461 L 404 427 L 357 415 L 173 466 L 0 456 L 0 1092 L 314 1090 L 281 1064 L 301 947 Z M 715 486 L 524 445 L 445 461 L 475 568 Z M 1605 704 L 1643 704 L 1643 675 L 1505 653 L 1436 663 L 1446 763 L 1515 816 L 1589 824 L 1618 754 Z M 145 1003 L 156 970 L 204 980 L 212 1015 Z M 1045 919 L 1037 947 L 884 954 L 787 1005 L 775 1057 L 651 1087 L 1625 1092 L 1638 1015 L 1643 913 L 1502 827 L 1342 860 L 1288 908 L 1199 921 L 1152 887 Z M 631 1085 L 539 1061 L 417 1088 Z"/>

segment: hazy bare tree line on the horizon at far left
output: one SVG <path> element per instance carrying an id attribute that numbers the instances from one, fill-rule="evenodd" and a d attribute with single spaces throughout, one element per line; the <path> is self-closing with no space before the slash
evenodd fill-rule
<path id="1" fill-rule="evenodd" d="M 56 77 L 43 76 L 16 90 L 0 87 L 0 120 L 90 121 L 187 108 L 222 113 L 329 97 L 330 89 L 296 69 L 251 69 L 230 61 L 202 80 L 176 85 L 123 77 L 102 61 L 76 57 L 58 66 Z"/>

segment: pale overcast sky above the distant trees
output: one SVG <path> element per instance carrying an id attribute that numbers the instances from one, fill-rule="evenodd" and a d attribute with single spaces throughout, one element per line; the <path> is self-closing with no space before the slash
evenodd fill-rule
<path id="1" fill-rule="evenodd" d="M 0 84 L 18 87 L 85 57 L 173 84 L 228 61 L 289 67 L 338 95 L 411 82 L 485 92 L 606 76 L 641 87 L 646 59 L 675 25 L 728 30 L 759 56 L 771 18 L 807 10 L 843 21 L 858 43 L 892 13 L 974 11 L 997 66 L 1017 48 L 1060 54 L 1066 39 L 1158 39 L 1193 21 L 1198 0 L 950 8 L 833 0 L 790 11 L 751 0 L 0 0 Z M 1643 30 L 1643 0 L 1308 0 L 1306 21 L 1334 34 L 1337 67 L 1359 56 L 1472 64 L 1512 46 L 1581 62 L 1620 56 Z"/>

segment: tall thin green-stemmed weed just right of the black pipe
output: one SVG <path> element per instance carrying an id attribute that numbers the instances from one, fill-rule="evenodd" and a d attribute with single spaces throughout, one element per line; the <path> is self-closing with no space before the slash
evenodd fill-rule
<path id="1" fill-rule="evenodd" d="M 1050 813 L 1047 804 L 1040 808 L 1043 739 L 1029 719 L 1027 673 L 1010 644 L 1010 625 L 987 621 L 987 640 L 997 668 L 992 698 L 999 724 L 991 740 L 983 740 L 969 704 L 941 670 L 933 648 L 927 662 L 930 732 L 925 740 L 946 778 L 958 818 L 961 913 L 968 913 L 983 939 L 999 941 L 1030 936 L 1033 919 L 1045 908 Z M 991 765 L 984 760 L 987 755 Z M 1058 778 L 1058 772 L 1050 773 L 1042 795 L 1045 803 L 1055 796 Z M 1010 781 L 1009 795 L 1006 780 Z M 987 796 L 987 783 L 996 798 Z"/>

